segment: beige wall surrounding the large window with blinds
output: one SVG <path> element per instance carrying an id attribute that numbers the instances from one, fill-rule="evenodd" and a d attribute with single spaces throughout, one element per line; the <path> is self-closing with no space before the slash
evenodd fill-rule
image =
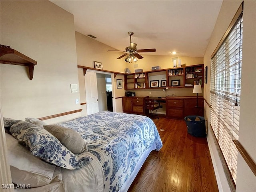
<path id="1" fill-rule="evenodd" d="M 206 53 L 204 64 L 210 72 L 210 57 L 214 52 L 220 39 L 227 30 L 232 18 L 242 1 L 224 1 Z M 242 52 L 242 84 L 240 102 L 240 130 L 239 141 L 256 162 L 256 1 L 244 1 L 243 22 L 243 52 Z M 204 98 L 210 102 L 210 74 L 208 84 L 204 85 Z M 210 108 L 205 105 L 205 117 L 210 119 Z M 214 170 L 220 191 L 230 191 L 228 179 L 224 174 L 222 162 L 218 156 L 218 150 L 214 143 L 213 133 L 208 134 L 208 145 L 210 148 Z M 256 191 L 256 177 L 248 168 L 240 154 L 238 154 L 236 191 Z"/>

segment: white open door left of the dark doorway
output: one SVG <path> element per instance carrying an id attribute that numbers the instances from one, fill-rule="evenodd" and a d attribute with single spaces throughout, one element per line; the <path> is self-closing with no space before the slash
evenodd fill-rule
<path id="1" fill-rule="evenodd" d="M 84 76 L 87 115 L 99 112 L 96 72 L 87 71 Z"/>

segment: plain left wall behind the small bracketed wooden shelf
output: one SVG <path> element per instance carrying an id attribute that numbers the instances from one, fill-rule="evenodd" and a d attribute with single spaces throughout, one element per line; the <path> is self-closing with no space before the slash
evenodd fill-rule
<path id="1" fill-rule="evenodd" d="M 73 15 L 50 1 L 1 1 L 1 44 L 37 61 L 29 80 L 24 66 L 1 64 L 4 117 L 40 118 L 80 109 Z M 80 113 L 48 122 L 79 117 Z"/>

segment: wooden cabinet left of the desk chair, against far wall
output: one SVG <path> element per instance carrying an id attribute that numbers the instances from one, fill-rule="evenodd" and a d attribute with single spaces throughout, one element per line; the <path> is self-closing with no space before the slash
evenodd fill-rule
<path id="1" fill-rule="evenodd" d="M 124 113 L 146 114 L 145 98 L 148 96 L 123 97 Z"/>

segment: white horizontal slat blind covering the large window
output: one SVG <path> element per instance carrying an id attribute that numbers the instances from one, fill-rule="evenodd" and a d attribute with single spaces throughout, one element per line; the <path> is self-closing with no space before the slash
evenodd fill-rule
<path id="1" fill-rule="evenodd" d="M 236 184 L 240 88 L 242 70 L 242 12 L 211 59 L 210 124 Z"/>

